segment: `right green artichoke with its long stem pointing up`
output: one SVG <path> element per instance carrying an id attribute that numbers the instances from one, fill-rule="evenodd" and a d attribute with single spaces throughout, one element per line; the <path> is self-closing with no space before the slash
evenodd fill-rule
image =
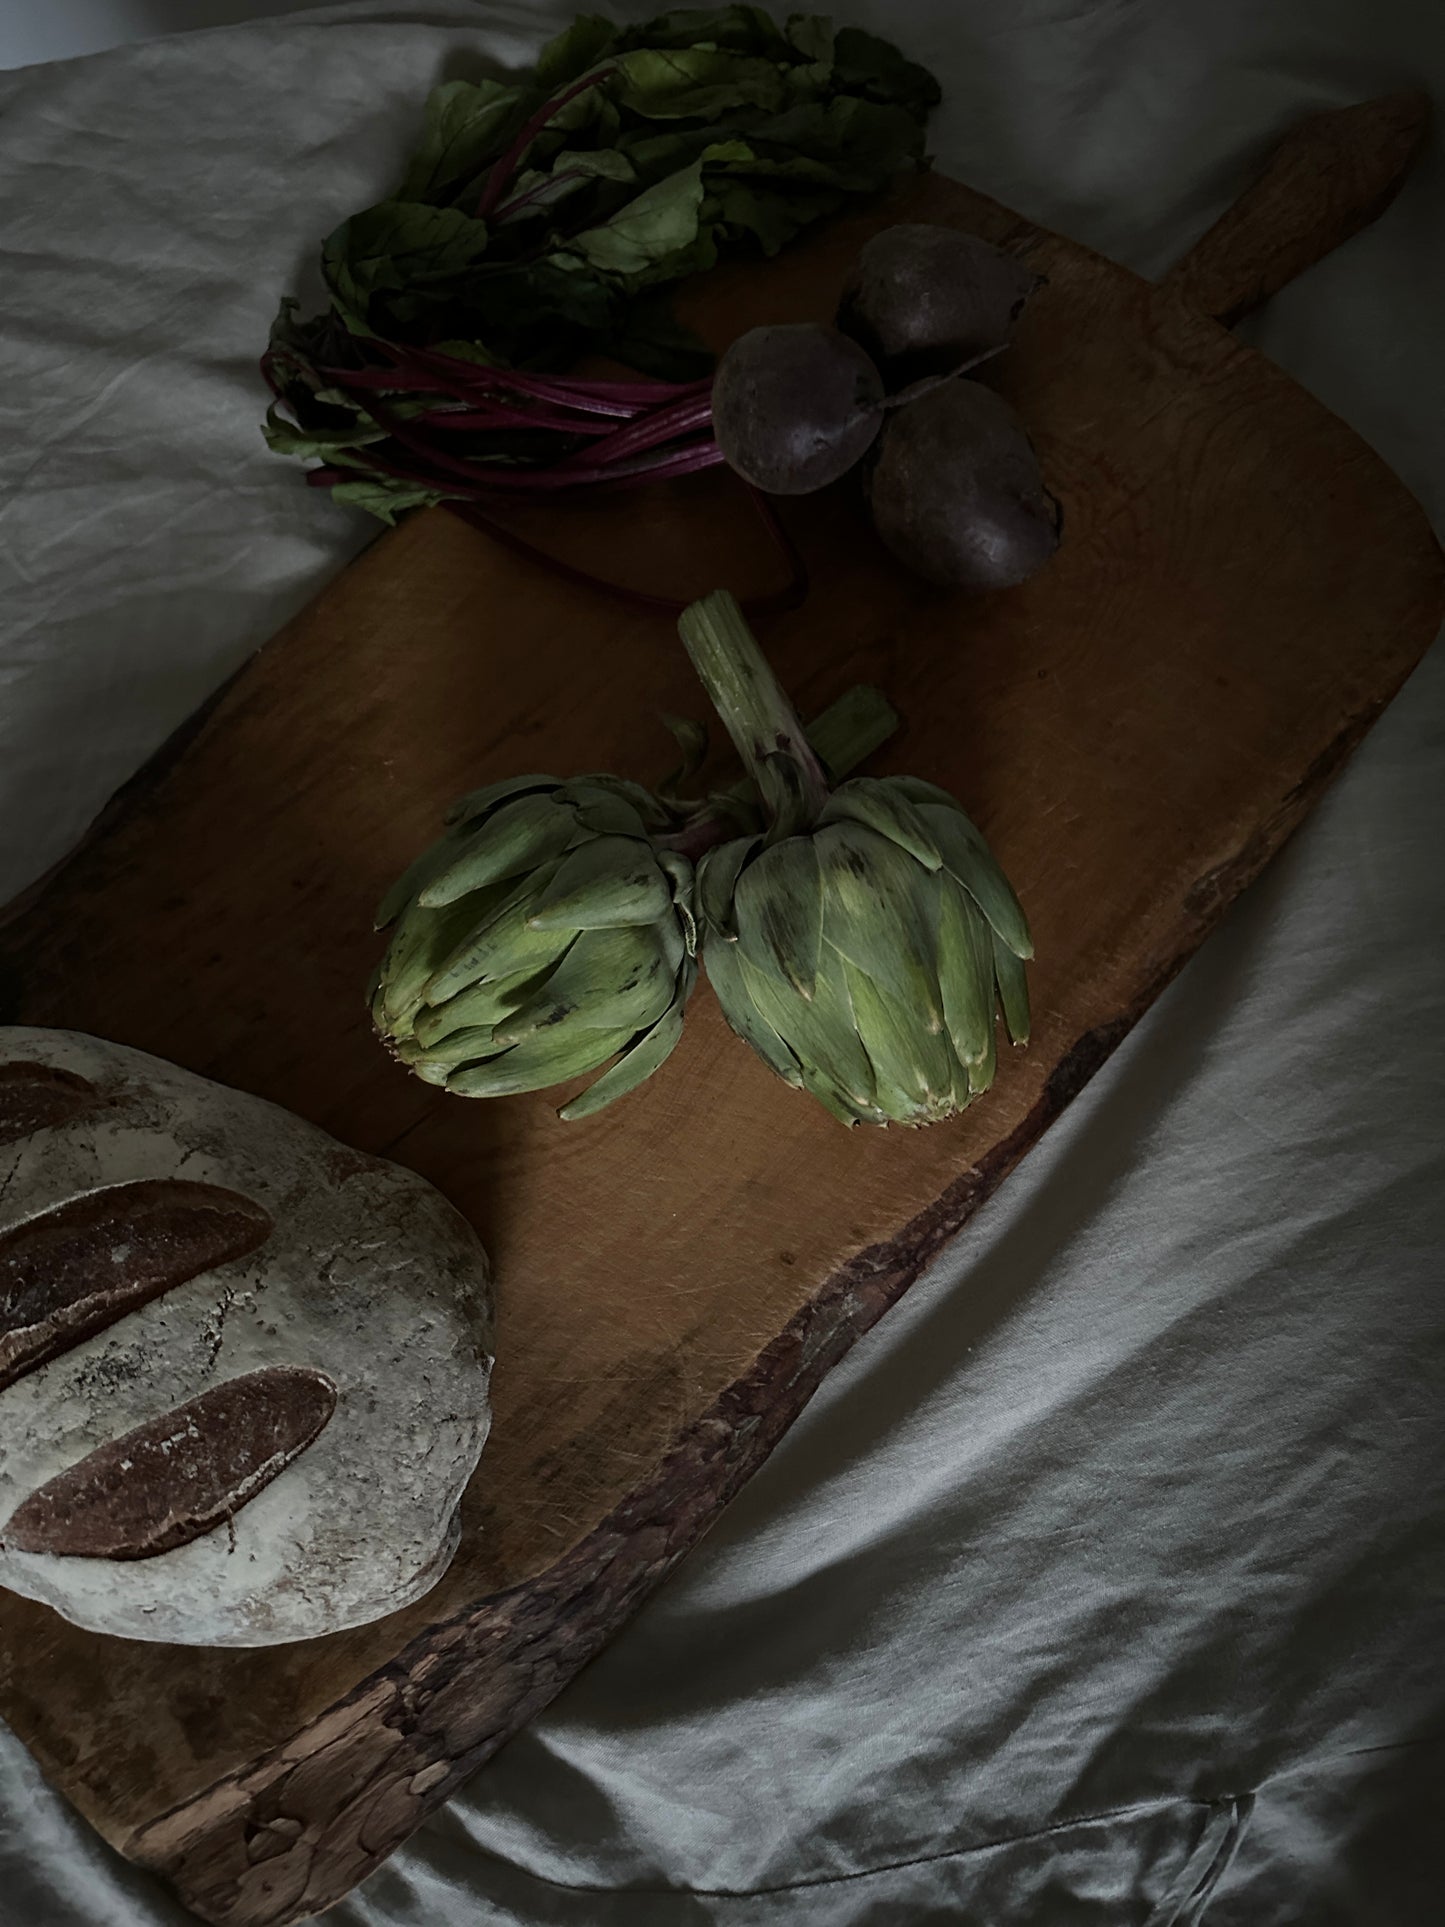
<path id="1" fill-rule="evenodd" d="M 996 1008 L 1029 1037 L 1033 942 L 988 844 L 931 782 L 830 790 L 730 595 L 678 626 L 771 817 L 697 867 L 722 1014 L 844 1123 L 954 1116 L 994 1081 Z"/>

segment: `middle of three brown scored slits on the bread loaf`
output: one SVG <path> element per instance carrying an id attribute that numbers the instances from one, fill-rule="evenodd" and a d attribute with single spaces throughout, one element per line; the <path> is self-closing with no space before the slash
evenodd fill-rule
<path id="1" fill-rule="evenodd" d="M 0 1389 L 189 1278 L 245 1258 L 272 1216 L 222 1185 L 148 1177 L 0 1233 Z"/>

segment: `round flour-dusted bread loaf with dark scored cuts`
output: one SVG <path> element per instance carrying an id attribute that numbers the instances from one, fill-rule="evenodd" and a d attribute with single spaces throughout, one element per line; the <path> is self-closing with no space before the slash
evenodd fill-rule
<path id="1" fill-rule="evenodd" d="M 489 1370 L 486 1253 L 424 1179 L 139 1050 L 0 1029 L 0 1586 L 195 1646 L 410 1605 Z"/>

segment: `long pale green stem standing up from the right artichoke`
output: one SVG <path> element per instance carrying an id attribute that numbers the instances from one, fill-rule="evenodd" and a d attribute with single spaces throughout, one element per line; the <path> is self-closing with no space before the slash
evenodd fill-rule
<path id="1" fill-rule="evenodd" d="M 738 597 L 728 590 L 703 595 L 684 609 L 678 634 L 763 796 L 775 834 L 811 829 L 828 800 L 828 779 Z"/>

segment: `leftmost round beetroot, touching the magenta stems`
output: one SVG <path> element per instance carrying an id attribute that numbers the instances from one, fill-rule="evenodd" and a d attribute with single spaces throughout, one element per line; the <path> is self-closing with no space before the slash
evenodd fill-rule
<path id="1" fill-rule="evenodd" d="M 778 322 L 740 335 L 717 364 L 713 434 L 744 482 L 769 495 L 811 495 L 873 443 L 882 376 L 863 349 L 823 322 Z"/>

